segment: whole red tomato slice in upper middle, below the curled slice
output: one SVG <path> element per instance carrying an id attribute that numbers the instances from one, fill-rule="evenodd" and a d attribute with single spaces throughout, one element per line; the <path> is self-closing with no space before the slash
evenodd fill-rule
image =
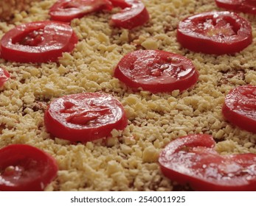
<path id="1" fill-rule="evenodd" d="M 179 54 L 137 50 L 122 57 L 114 77 L 130 88 L 157 93 L 190 88 L 198 80 L 198 71 L 191 60 Z"/>

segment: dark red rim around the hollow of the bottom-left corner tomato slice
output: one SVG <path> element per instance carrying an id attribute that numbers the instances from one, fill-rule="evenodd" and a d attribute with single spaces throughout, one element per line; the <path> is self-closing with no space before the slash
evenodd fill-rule
<path id="1" fill-rule="evenodd" d="M 12 154 L 10 156 L 10 154 Z M 5 146 L 0 149 L 0 156 L 5 157 L 0 159 L 0 165 L 4 164 L 4 168 L 7 166 L 12 166 L 17 160 L 13 159 L 19 157 L 19 162 L 23 161 L 24 158 L 29 158 L 32 161 L 41 163 L 40 174 L 37 177 L 33 177 L 33 180 L 30 180 L 30 176 L 27 178 L 15 180 L 13 183 L 6 185 L 7 182 L 4 182 L 3 176 L 0 173 L 0 191 L 43 191 L 52 180 L 57 177 L 58 165 L 55 159 L 50 156 L 48 153 L 44 152 L 41 149 L 38 149 L 34 146 L 27 144 L 12 144 Z M 26 171 L 26 170 L 25 170 Z M 29 171 L 31 172 L 31 171 Z M 26 185 L 27 184 L 27 185 Z"/>

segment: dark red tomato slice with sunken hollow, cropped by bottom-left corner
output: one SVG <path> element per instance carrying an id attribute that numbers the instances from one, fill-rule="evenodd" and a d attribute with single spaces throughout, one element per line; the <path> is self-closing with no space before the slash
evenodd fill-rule
<path id="1" fill-rule="evenodd" d="M 25 144 L 0 149 L 0 191 L 44 191 L 58 166 L 46 152 Z"/>

